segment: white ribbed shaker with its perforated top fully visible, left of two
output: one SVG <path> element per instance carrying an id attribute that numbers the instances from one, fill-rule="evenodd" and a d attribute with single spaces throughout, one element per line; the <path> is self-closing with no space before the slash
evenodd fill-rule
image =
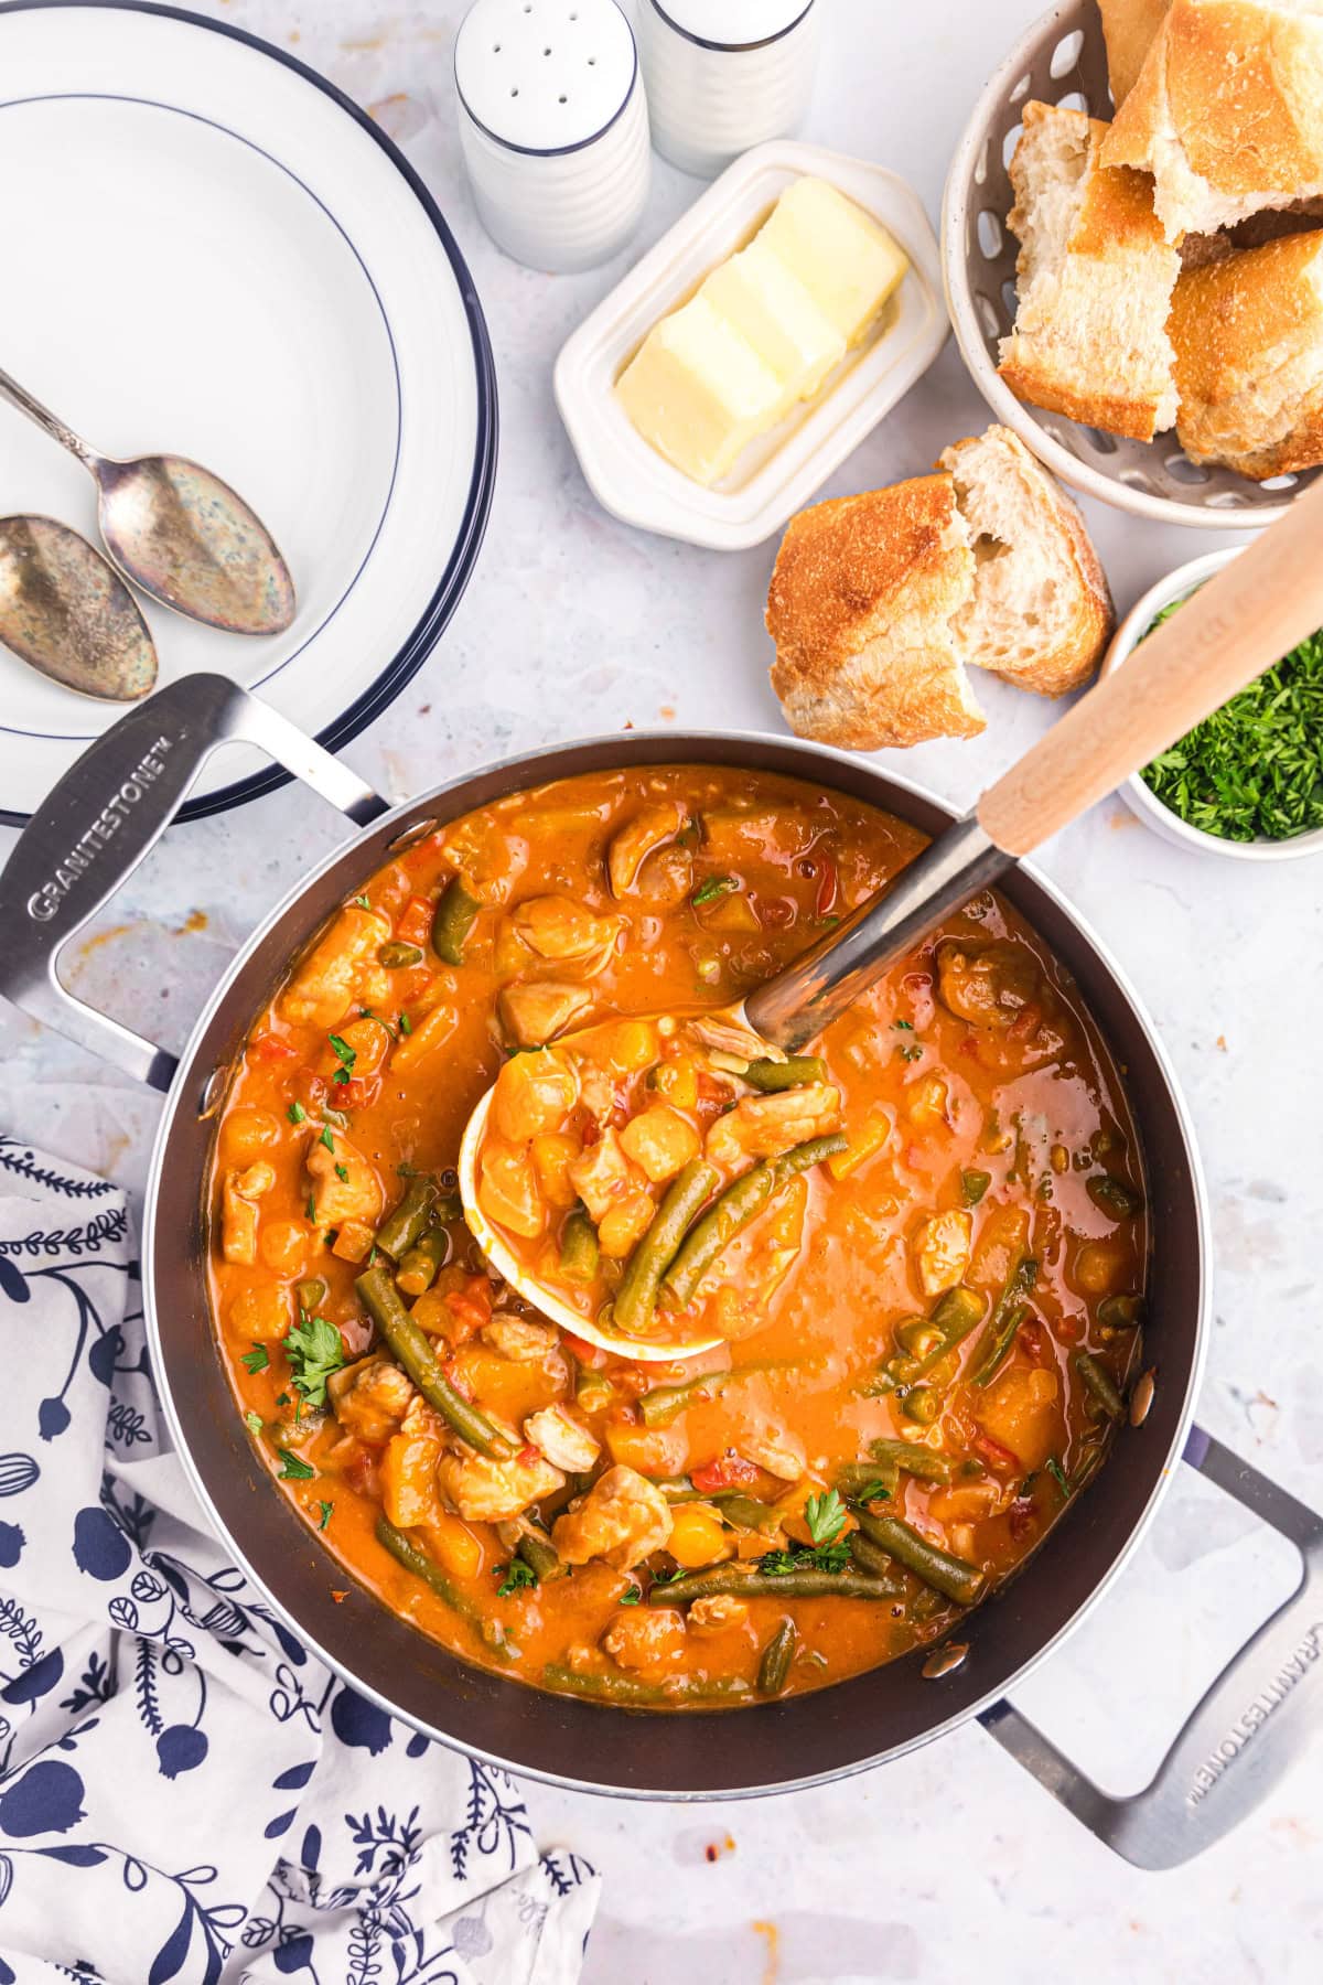
<path id="1" fill-rule="evenodd" d="M 649 197 L 649 113 L 615 0 L 476 0 L 454 42 L 482 224 L 530 268 L 593 268 Z"/>

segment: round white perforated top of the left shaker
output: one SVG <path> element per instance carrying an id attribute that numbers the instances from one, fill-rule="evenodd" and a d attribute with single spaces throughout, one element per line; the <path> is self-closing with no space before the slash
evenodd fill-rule
<path id="1" fill-rule="evenodd" d="M 502 145 L 569 151 L 619 115 L 635 62 L 615 0 L 476 0 L 454 42 L 454 83 Z"/>

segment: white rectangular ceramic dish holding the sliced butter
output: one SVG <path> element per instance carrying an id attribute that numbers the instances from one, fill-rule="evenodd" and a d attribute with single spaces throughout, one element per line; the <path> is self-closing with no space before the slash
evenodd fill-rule
<path id="1" fill-rule="evenodd" d="M 756 234 L 795 179 L 825 179 L 897 238 L 908 270 L 877 326 L 811 399 L 702 488 L 629 421 L 615 381 L 653 326 Z M 932 365 L 946 339 L 938 246 L 918 195 L 865 159 L 772 139 L 746 151 L 583 320 L 555 361 L 559 407 L 579 466 L 605 510 L 718 552 L 762 544 L 801 510 L 863 437 Z"/>

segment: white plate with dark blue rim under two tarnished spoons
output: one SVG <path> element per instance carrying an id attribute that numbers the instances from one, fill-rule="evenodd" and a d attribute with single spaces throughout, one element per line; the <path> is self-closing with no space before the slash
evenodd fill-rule
<path id="1" fill-rule="evenodd" d="M 492 351 L 440 208 L 311 69 L 133 0 L 0 4 L 0 365 L 105 455 L 214 468 L 294 572 L 274 637 L 141 601 L 161 683 L 218 669 L 339 748 L 430 653 L 492 498 Z M 99 542 L 91 476 L 0 405 L 10 512 Z M 0 649 L 0 820 L 121 709 Z M 232 746 L 184 818 L 284 776 Z"/>

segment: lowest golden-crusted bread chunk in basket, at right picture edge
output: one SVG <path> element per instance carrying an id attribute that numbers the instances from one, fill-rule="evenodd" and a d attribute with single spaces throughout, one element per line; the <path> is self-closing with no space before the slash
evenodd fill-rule
<path id="1" fill-rule="evenodd" d="M 1190 461 L 1260 482 L 1323 463 L 1323 230 L 1186 270 L 1170 333 Z"/>

